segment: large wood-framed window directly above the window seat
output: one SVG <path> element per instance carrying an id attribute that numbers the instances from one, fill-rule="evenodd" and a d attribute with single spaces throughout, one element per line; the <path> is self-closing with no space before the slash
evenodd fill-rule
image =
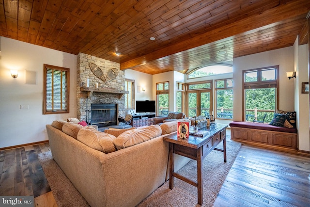
<path id="1" fill-rule="evenodd" d="M 243 71 L 244 119 L 252 122 L 266 114 L 265 123 L 279 106 L 279 66 Z"/>

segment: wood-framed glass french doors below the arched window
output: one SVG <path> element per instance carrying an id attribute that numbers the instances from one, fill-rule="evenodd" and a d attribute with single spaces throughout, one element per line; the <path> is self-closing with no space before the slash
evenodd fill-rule
<path id="1" fill-rule="evenodd" d="M 191 90 L 187 92 L 187 111 L 188 117 L 208 116 L 212 109 L 212 91 Z"/>

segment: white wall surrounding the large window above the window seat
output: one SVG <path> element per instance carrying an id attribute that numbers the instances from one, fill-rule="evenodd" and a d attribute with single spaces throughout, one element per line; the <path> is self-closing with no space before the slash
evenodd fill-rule
<path id="1" fill-rule="evenodd" d="M 233 120 L 242 121 L 242 71 L 279 65 L 279 109 L 294 111 L 294 80 L 286 72 L 294 70 L 294 48 L 287 47 L 233 59 Z"/>

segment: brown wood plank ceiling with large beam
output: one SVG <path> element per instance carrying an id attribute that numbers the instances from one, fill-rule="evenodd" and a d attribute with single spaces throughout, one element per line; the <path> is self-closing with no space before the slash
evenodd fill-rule
<path id="1" fill-rule="evenodd" d="M 310 0 L 0 0 L 0 36 L 186 73 L 292 46 L 309 11 Z"/>

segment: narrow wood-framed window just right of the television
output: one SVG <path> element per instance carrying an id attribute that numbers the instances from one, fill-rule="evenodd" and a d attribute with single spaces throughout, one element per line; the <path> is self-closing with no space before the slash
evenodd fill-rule
<path id="1" fill-rule="evenodd" d="M 157 115 L 166 116 L 169 112 L 169 82 L 156 83 Z"/>

